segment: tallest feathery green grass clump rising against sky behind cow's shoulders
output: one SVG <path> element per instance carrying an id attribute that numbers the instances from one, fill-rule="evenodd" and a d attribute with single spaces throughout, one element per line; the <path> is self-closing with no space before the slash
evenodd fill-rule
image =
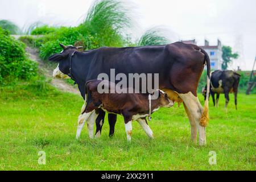
<path id="1" fill-rule="evenodd" d="M 131 26 L 123 1 L 94 1 L 80 27 L 97 39 L 98 46 L 123 46 L 123 31 Z"/>

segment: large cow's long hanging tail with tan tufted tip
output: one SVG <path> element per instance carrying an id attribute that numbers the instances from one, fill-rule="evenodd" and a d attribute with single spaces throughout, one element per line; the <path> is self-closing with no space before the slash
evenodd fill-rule
<path id="1" fill-rule="evenodd" d="M 207 96 L 204 102 L 204 110 L 200 119 L 200 125 L 206 127 L 209 123 L 209 92 L 210 92 L 210 58 L 208 53 L 201 49 L 201 52 L 204 53 L 205 64 L 207 65 Z"/>

